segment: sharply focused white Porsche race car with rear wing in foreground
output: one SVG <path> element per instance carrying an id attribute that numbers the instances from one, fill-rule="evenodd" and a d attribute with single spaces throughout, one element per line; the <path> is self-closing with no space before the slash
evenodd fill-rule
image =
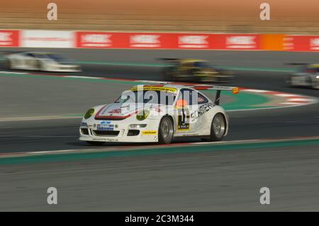
<path id="1" fill-rule="evenodd" d="M 217 90 L 211 101 L 198 89 Z M 79 128 L 79 140 L 104 142 L 159 142 L 174 137 L 201 137 L 220 141 L 228 132 L 228 115 L 218 106 L 220 91 L 237 94 L 237 87 L 138 85 L 114 102 L 89 109 Z"/>

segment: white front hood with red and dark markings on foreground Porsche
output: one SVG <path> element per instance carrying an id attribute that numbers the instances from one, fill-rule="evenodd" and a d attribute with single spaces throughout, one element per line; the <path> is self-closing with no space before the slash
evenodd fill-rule
<path id="1" fill-rule="evenodd" d="M 135 115 L 138 111 L 144 109 L 150 109 L 153 107 L 158 107 L 159 104 L 152 103 L 111 103 L 102 106 L 100 111 L 96 113 L 96 120 L 103 119 L 125 119 L 131 115 Z"/>

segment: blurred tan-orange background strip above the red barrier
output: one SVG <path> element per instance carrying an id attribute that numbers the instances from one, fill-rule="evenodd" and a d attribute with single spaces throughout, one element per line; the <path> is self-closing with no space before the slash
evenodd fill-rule
<path id="1" fill-rule="evenodd" d="M 47 21 L 47 4 L 58 20 Z M 271 6 L 261 21 L 260 4 Z M 1 0 L 0 29 L 319 34 L 318 0 Z"/>

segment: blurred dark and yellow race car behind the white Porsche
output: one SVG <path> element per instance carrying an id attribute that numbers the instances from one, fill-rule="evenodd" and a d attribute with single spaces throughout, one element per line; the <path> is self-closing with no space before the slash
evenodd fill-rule
<path id="1" fill-rule="evenodd" d="M 169 63 L 163 74 L 166 81 L 228 82 L 233 73 L 213 67 L 206 60 L 160 58 Z"/>

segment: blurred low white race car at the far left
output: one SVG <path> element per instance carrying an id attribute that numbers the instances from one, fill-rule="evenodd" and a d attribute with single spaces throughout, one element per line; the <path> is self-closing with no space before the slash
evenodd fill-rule
<path id="1" fill-rule="evenodd" d="M 81 72 L 79 64 L 50 52 L 6 52 L 7 69 L 39 70 L 44 72 Z"/>

